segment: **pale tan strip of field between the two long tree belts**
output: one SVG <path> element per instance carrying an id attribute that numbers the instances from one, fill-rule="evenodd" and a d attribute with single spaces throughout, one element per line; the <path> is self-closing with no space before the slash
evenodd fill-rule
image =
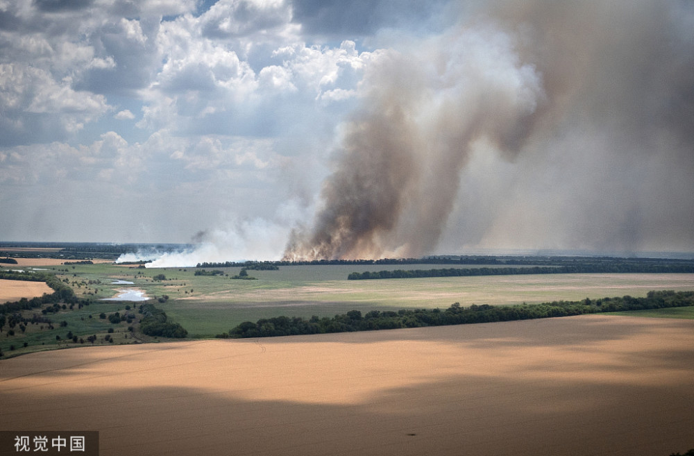
<path id="1" fill-rule="evenodd" d="M 652 289 L 694 289 L 694 274 L 665 273 L 577 273 L 529 274 L 524 276 L 476 276 L 389 280 L 325 280 L 302 285 L 282 282 L 269 285 L 263 280 L 251 283 L 217 280 L 223 291 L 179 297 L 185 301 L 228 303 L 272 303 L 294 301 L 320 303 L 369 303 L 400 307 L 448 307 L 455 301 L 463 305 L 486 303 L 512 305 L 542 303 L 554 299 L 578 300 L 586 296 L 645 296 Z M 244 285 L 246 285 L 244 287 Z M 204 287 L 196 285 L 196 289 Z"/>

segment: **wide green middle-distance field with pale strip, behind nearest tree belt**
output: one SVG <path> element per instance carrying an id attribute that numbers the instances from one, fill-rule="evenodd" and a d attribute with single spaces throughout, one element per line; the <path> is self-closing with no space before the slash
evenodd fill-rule
<path id="1" fill-rule="evenodd" d="M 461 265 L 460 267 L 475 267 Z M 393 265 L 391 269 L 401 269 Z M 411 264 L 408 269 L 431 269 Z M 49 268 L 50 269 L 50 268 Z M 523 276 L 475 276 L 393 280 L 346 280 L 353 271 L 373 265 L 286 266 L 278 271 L 248 271 L 257 280 L 232 280 L 240 268 L 220 268 L 222 276 L 195 276 L 195 268 L 137 269 L 112 264 L 55 267 L 62 269 L 78 296 L 108 298 L 119 288 L 137 288 L 147 296 L 169 296 L 157 303 L 191 337 L 211 337 L 242 321 L 271 316 L 334 316 L 348 310 L 398 310 L 412 307 L 513 305 L 577 300 L 586 297 L 645 296 L 652 289 L 694 289 L 694 274 L 577 273 Z M 67 269 L 67 271 L 65 271 Z M 378 269 L 389 269 L 379 265 Z M 209 268 L 208 270 L 212 270 Z M 164 274 L 166 280 L 152 280 Z M 85 285 L 85 282 L 101 282 Z M 133 285 L 110 285 L 129 280 Z M 111 309 L 123 303 L 99 304 Z"/>

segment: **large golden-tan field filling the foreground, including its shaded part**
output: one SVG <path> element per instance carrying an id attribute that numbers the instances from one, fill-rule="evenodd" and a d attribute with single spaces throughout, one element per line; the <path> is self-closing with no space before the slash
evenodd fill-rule
<path id="1" fill-rule="evenodd" d="M 0 361 L 0 428 L 101 455 L 669 455 L 693 446 L 694 321 L 578 316 Z"/>

